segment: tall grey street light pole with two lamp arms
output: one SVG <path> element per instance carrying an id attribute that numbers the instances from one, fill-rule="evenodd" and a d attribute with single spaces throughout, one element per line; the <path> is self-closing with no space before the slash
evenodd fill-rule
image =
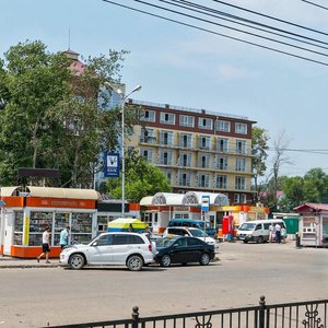
<path id="1" fill-rule="evenodd" d="M 125 218 L 126 207 L 126 157 L 125 157 L 125 105 L 126 99 L 134 92 L 140 91 L 141 85 L 137 85 L 130 93 L 125 95 L 120 89 L 115 89 L 109 82 L 104 83 L 106 89 L 116 92 L 120 99 L 121 110 L 121 218 Z"/>

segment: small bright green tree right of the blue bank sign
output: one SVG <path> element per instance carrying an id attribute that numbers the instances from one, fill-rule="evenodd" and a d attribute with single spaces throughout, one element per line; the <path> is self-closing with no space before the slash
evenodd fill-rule
<path id="1" fill-rule="evenodd" d="M 131 202 L 140 202 L 145 196 L 156 192 L 169 192 L 172 187 L 166 176 L 154 165 L 148 164 L 145 159 L 136 151 L 126 155 L 125 195 Z M 121 177 L 108 178 L 107 188 L 110 196 L 121 198 Z"/>

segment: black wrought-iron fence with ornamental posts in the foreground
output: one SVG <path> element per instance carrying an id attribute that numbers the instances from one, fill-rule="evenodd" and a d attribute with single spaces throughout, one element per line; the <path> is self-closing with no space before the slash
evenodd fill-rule
<path id="1" fill-rule="evenodd" d="M 130 319 L 78 325 L 50 326 L 56 328 L 328 328 L 328 300 L 284 304 L 266 304 L 210 312 L 186 313 L 155 317 L 140 317 L 139 307 L 132 308 Z"/>

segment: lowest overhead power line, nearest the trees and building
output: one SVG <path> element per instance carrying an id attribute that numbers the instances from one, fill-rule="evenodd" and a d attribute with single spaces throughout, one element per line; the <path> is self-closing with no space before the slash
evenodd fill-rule
<path id="1" fill-rule="evenodd" d="M 257 43 L 253 43 L 253 42 L 245 40 L 245 39 L 242 39 L 242 38 L 233 37 L 233 36 L 226 35 L 226 34 L 222 34 L 222 33 L 214 32 L 214 31 L 211 31 L 211 30 L 208 30 L 208 28 L 199 27 L 199 26 L 196 26 L 196 25 L 192 25 L 192 24 L 179 22 L 177 20 L 168 19 L 168 17 L 165 17 L 165 16 L 162 16 L 162 15 L 159 15 L 159 14 L 154 14 L 154 13 L 144 11 L 144 10 L 132 8 L 132 7 L 129 7 L 129 5 L 121 4 L 121 3 L 116 3 L 116 2 L 110 1 L 110 0 L 102 0 L 102 1 L 110 3 L 110 4 L 115 4 L 115 5 L 118 5 L 118 7 L 121 7 L 121 8 L 126 8 L 126 9 L 136 11 L 136 12 L 140 12 L 140 13 L 143 13 L 143 14 L 147 14 L 147 15 L 150 15 L 150 16 L 162 19 L 162 20 L 165 20 L 165 21 L 168 21 L 168 22 L 180 24 L 180 25 L 184 25 L 184 26 L 187 26 L 187 27 L 191 27 L 191 28 L 195 28 L 195 30 L 199 30 L 199 31 L 202 31 L 202 32 L 207 32 L 207 33 L 210 33 L 210 34 L 222 36 L 222 37 L 230 38 L 230 39 L 233 39 L 233 40 L 237 40 L 237 42 L 241 42 L 241 43 L 244 43 L 244 44 L 247 44 L 247 45 L 256 46 L 256 47 L 259 47 L 259 48 L 262 48 L 262 49 L 271 50 L 271 51 L 274 51 L 274 52 L 279 52 L 279 54 L 286 55 L 286 56 L 294 57 L 294 58 L 298 58 L 298 59 L 303 59 L 303 60 L 314 62 L 314 63 L 318 63 L 318 65 L 321 65 L 321 66 L 328 66 L 328 63 L 324 62 L 324 61 L 319 61 L 319 60 L 315 60 L 315 59 L 312 59 L 312 58 L 308 58 L 308 57 L 295 55 L 295 54 L 284 51 L 284 50 L 280 50 L 280 49 L 277 49 L 277 48 L 263 46 L 263 45 L 260 45 L 260 44 L 257 44 Z"/>

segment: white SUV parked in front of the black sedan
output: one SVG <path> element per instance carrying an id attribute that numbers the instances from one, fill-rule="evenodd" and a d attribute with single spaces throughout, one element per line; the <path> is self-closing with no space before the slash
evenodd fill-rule
<path id="1" fill-rule="evenodd" d="M 127 266 L 139 271 L 154 261 L 155 243 L 145 234 L 108 232 L 86 245 L 72 245 L 60 253 L 60 263 L 71 269 L 84 266 Z"/>

